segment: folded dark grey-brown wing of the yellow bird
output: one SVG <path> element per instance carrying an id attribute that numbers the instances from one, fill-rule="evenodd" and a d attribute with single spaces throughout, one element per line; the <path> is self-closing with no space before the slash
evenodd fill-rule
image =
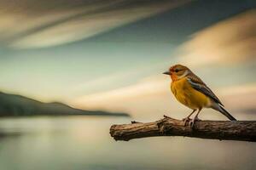
<path id="1" fill-rule="evenodd" d="M 188 82 L 191 84 L 192 88 L 201 92 L 202 94 L 207 95 L 207 97 L 211 98 L 213 101 L 218 103 L 219 105 L 223 105 L 218 97 L 213 94 L 212 90 L 207 87 L 207 85 L 201 81 L 201 79 L 195 75 L 187 77 Z M 224 106 L 224 105 L 223 105 Z"/>

